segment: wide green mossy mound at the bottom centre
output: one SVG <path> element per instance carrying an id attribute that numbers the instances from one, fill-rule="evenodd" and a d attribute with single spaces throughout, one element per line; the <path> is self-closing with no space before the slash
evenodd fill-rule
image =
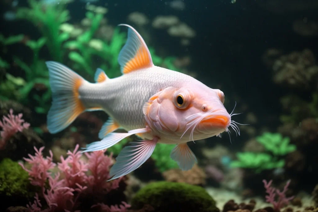
<path id="1" fill-rule="evenodd" d="M 154 182 L 140 189 L 132 200 L 133 209 L 150 204 L 156 212 L 218 212 L 204 188 L 178 182 Z"/>

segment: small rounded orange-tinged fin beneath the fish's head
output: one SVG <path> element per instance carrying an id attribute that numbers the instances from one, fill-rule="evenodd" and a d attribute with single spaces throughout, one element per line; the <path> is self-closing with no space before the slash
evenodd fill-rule
<path id="1" fill-rule="evenodd" d="M 190 170 L 194 166 L 194 163 L 197 163 L 197 157 L 187 143 L 178 144 L 171 151 L 170 157 L 177 162 L 183 171 Z"/>

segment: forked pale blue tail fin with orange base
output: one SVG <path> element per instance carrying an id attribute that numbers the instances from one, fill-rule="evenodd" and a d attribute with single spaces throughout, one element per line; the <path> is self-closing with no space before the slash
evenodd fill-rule
<path id="1" fill-rule="evenodd" d="M 60 63 L 48 61 L 46 65 L 52 90 L 52 106 L 47 114 L 47 128 L 50 133 L 58 133 L 85 111 L 86 108 L 79 99 L 79 87 L 85 79 Z"/>

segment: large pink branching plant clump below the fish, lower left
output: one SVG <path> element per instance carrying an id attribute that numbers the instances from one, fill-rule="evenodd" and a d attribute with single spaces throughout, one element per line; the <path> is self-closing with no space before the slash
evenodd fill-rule
<path id="1" fill-rule="evenodd" d="M 35 155 L 29 154 L 29 159 L 24 158 L 31 165 L 30 169 L 19 163 L 24 170 L 29 173 L 32 185 L 41 187 L 41 195 L 47 204 L 46 209 L 36 194 L 33 203 L 27 205 L 31 212 L 55 212 L 55 211 L 79 211 L 76 210 L 79 204 L 79 197 L 85 195 L 106 194 L 112 189 L 119 187 L 122 178 L 107 182 L 109 179 L 109 167 L 113 164 L 112 155 L 105 155 L 106 150 L 86 153 L 87 161 L 81 158 L 78 152 L 79 145 L 76 145 L 73 152 L 68 151 L 67 158 L 61 156 L 61 162 L 58 163 L 58 172 L 52 176 L 52 169 L 56 167 L 53 163 L 52 151 L 50 156 L 43 157 L 42 151 L 34 147 Z M 45 182 L 48 180 L 49 188 L 45 188 Z M 100 211 L 106 212 L 125 212 L 130 207 L 126 202 L 122 205 L 107 206 L 104 203 L 98 203 L 92 207 L 99 206 Z"/>

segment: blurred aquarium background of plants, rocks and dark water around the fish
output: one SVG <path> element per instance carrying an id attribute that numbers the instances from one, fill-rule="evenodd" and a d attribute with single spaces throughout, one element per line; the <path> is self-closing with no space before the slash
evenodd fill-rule
<path id="1" fill-rule="evenodd" d="M 318 2 L 2 0 L 0 211 L 318 211 Z M 121 75 L 130 24 L 153 62 L 225 94 L 238 135 L 189 142 L 181 171 L 158 144 L 134 172 L 109 169 L 135 137 L 81 154 L 108 116 L 82 113 L 57 134 L 45 61 L 93 82 Z M 43 148 L 44 147 L 44 148 Z M 278 190 L 277 190 L 278 189 Z"/>

